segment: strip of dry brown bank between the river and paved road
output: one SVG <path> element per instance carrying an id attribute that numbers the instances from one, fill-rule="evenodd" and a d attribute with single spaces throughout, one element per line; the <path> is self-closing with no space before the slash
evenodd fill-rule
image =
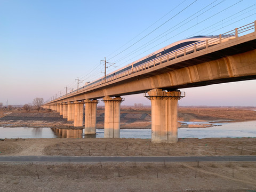
<path id="1" fill-rule="evenodd" d="M 152 143 L 151 139 L 5 139 L 1 156 L 237 156 L 256 155 L 256 138 L 178 139 Z"/>

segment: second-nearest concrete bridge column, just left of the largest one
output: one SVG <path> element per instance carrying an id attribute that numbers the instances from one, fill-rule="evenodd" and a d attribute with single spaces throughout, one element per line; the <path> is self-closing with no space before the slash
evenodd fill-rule
<path id="1" fill-rule="evenodd" d="M 104 97 L 105 102 L 105 122 L 104 137 L 120 138 L 120 105 L 123 98 Z"/>

